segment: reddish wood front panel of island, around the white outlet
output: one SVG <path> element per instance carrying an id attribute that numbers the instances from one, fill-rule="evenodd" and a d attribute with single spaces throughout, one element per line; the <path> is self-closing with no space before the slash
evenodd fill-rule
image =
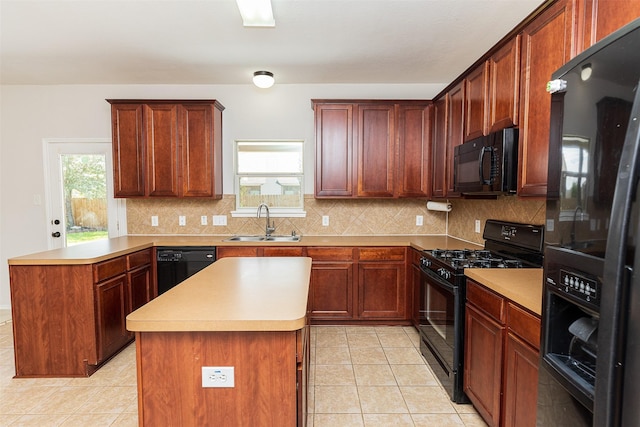
<path id="1" fill-rule="evenodd" d="M 296 425 L 296 333 L 137 332 L 139 424 Z M 233 366 L 234 388 L 203 388 Z"/>

